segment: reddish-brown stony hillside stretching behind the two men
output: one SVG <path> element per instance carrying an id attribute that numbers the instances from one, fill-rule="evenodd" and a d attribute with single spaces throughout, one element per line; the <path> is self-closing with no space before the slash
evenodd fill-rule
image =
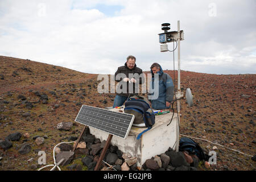
<path id="1" fill-rule="evenodd" d="M 0 56 L 0 63 L 0 140 L 11 133 L 22 134 L 19 141 L 12 141 L 13 147 L 6 151 L 0 148 L 0 170 L 31 170 L 40 150 L 46 151 L 47 164 L 52 164 L 53 147 L 71 136 L 79 137 L 83 126 L 73 121 L 82 104 L 113 105 L 115 94 L 97 92 L 96 74 L 6 56 Z M 174 77 L 173 71 L 164 72 Z M 191 88 L 194 106 L 181 101 L 180 133 L 255 155 L 255 81 L 256 75 L 250 74 L 181 71 L 181 90 Z M 60 122 L 73 122 L 72 129 L 56 129 Z M 39 146 L 33 139 L 38 135 L 45 138 Z M 196 142 L 206 150 L 214 146 L 203 140 Z M 22 143 L 32 146 L 26 155 L 18 153 Z M 217 148 L 217 165 L 210 170 L 256 169 L 251 157 Z"/>

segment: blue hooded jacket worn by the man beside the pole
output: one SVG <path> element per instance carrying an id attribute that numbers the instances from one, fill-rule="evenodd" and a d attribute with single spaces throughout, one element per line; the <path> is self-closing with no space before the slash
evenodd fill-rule
<path id="1" fill-rule="evenodd" d="M 149 96 L 154 94 L 155 78 L 154 78 L 154 73 L 152 73 L 152 70 L 151 70 L 151 74 L 152 74 L 152 80 L 150 81 L 150 88 L 152 88 L 152 90 L 150 90 L 150 93 L 148 93 Z M 161 66 L 158 74 L 159 74 L 158 98 L 156 100 L 150 100 L 148 98 L 148 100 L 150 100 L 153 109 L 167 109 L 170 107 L 166 107 L 166 101 L 171 103 L 174 97 L 174 84 L 172 82 L 172 78 L 170 77 L 170 75 L 168 75 L 167 73 L 164 73 Z"/>

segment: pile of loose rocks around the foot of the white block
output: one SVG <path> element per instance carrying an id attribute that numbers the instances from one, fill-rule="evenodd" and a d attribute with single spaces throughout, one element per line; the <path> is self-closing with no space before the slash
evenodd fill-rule
<path id="1" fill-rule="evenodd" d="M 81 159 L 82 165 L 89 171 L 93 171 L 97 160 L 100 158 L 101 152 L 105 146 L 106 141 L 100 141 L 94 135 L 89 133 L 89 129 L 85 131 L 85 136 L 81 138 L 79 146 L 75 150 L 75 156 L 84 156 Z M 64 147 L 65 146 L 65 147 Z M 69 144 L 62 144 L 58 152 L 71 151 L 75 146 Z M 142 168 L 137 167 L 137 158 L 124 153 L 117 146 L 110 144 L 104 156 L 104 162 L 108 163 L 105 166 L 102 164 L 100 170 L 117 170 L 117 171 L 196 171 L 199 165 L 199 159 L 196 155 L 189 155 L 188 152 L 175 152 L 170 147 L 163 154 L 155 155 L 151 159 L 147 159 Z M 72 162 L 69 160 L 69 162 Z M 68 165 L 66 162 L 65 165 Z M 81 169 L 80 165 L 71 163 L 68 169 Z"/>

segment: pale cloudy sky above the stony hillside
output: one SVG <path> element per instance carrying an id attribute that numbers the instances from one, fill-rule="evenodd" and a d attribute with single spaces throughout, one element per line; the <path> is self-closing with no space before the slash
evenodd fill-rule
<path id="1" fill-rule="evenodd" d="M 255 0 L 1 0 L 0 55 L 97 74 L 133 55 L 143 71 L 172 70 L 174 59 L 177 70 L 177 49 L 160 52 L 158 34 L 180 20 L 181 70 L 255 74 L 255 9 Z"/>

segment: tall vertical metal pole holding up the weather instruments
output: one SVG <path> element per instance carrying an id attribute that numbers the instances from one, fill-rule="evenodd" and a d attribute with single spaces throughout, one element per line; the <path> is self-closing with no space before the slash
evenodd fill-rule
<path id="1" fill-rule="evenodd" d="M 177 21 L 177 40 L 178 40 L 178 81 L 177 81 L 177 98 L 180 98 L 180 20 Z M 176 152 L 179 151 L 179 125 L 180 125 L 180 100 L 177 100 L 177 117 L 178 121 L 176 124 Z"/>

